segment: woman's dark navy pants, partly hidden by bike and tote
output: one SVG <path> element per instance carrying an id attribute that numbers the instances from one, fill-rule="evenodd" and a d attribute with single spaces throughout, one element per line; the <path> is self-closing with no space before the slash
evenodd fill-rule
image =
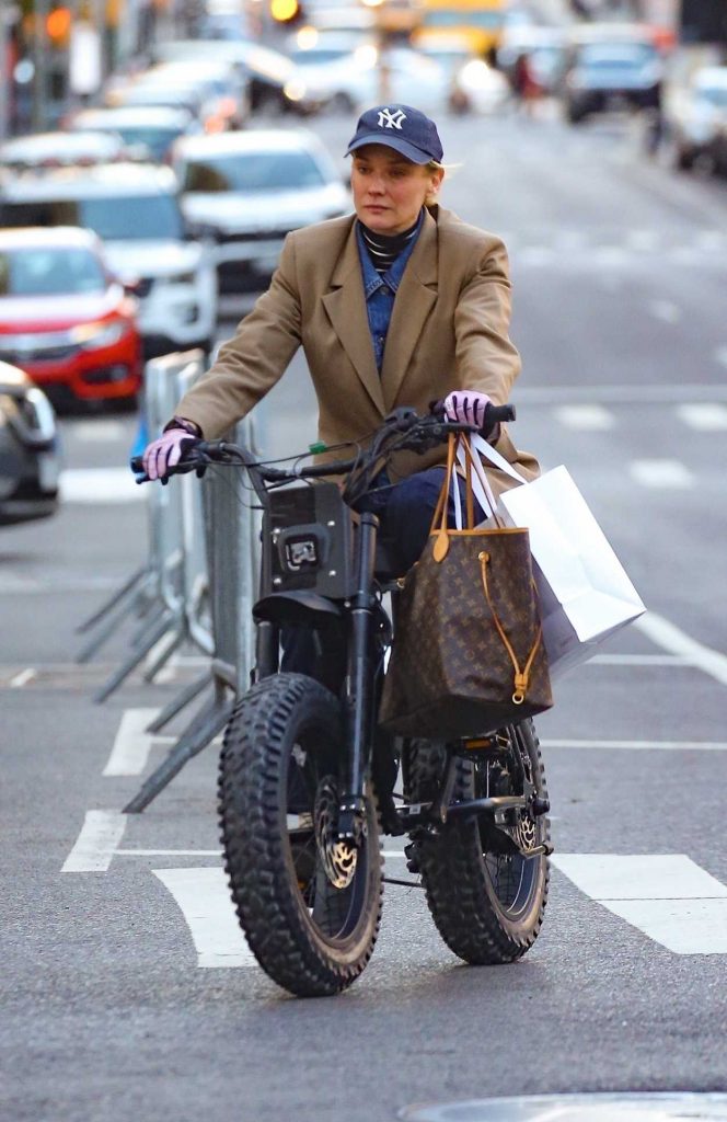
<path id="1" fill-rule="evenodd" d="M 375 489 L 357 506 L 359 512 L 376 514 L 380 522 L 379 541 L 392 562 L 393 572 L 403 576 L 418 560 L 429 536 L 436 500 L 444 481 L 444 468 L 417 471 L 398 484 L 389 484 L 385 472 Z M 464 481 L 458 477 L 460 494 Z M 462 494 L 462 506 L 464 496 Z M 484 517 L 477 503 L 475 521 Z M 454 504 L 449 496 L 448 519 L 454 522 Z M 312 632 L 307 627 L 283 628 L 283 661 L 280 669 L 310 674 L 334 693 L 338 693 L 346 673 L 346 642 L 343 636 Z"/>

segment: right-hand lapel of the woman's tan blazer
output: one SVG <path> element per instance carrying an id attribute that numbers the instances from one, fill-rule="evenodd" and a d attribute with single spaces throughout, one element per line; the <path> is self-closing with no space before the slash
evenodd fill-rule
<path id="1" fill-rule="evenodd" d="M 386 411 L 393 408 L 414 349 L 438 296 L 436 222 L 429 211 L 416 246 L 404 269 L 394 301 L 394 312 L 386 335 L 381 387 Z"/>

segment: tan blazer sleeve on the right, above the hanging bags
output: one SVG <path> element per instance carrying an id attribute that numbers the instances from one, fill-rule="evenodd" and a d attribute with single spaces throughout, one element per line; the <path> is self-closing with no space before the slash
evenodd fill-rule
<path id="1" fill-rule="evenodd" d="M 510 280 L 507 251 L 488 238 L 454 311 L 457 380 L 461 389 L 478 389 L 498 404 L 509 398 L 521 359 L 509 340 Z"/>

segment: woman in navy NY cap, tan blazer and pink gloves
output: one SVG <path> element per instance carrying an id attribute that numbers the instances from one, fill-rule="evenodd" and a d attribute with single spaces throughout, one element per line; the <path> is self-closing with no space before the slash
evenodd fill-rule
<path id="1" fill-rule="evenodd" d="M 508 401 L 521 362 L 508 338 L 507 254 L 499 238 L 438 204 L 444 168 L 434 121 L 411 105 L 369 109 L 347 155 L 356 213 L 287 236 L 270 287 L 146 449 L 151 479 L 178 461 L 190 435 L 212 440 L 243 417 L 301 346 L 319 439 L 330 445 L 365 447 L 401 405 L 425 413 L 444 399 L 451 420 L 481 426 L 488 401 Z M 490 440 L 521 475 L 537 475 L 504 429 Z M 396 453 L 377 479 L 367 508 L 402 573 L 426 541 L 445 458 L 445 445 Z M 512 486 L 497 472 L 493 482 Z"/>

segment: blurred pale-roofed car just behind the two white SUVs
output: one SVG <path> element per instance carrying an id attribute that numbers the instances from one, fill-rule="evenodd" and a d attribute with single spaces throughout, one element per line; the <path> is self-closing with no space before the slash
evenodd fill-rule
<path id="1" fill-rule="evenodd" d="M 201 131 L 185 109 L 164 105 L 141 105 L 136 109 L 82 109 L 68 120 L 73 132 L 117 134 L 127 149 L 160 164 L 167 159 L 172 145 L 181 136 Z"/>

